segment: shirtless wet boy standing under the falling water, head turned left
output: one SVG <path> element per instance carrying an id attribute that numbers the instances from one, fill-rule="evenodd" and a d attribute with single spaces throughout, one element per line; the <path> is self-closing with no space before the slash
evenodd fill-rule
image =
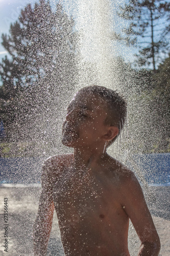
<path id="1" fill-rule="evenodd" d="M 135 175 L 107 147 L 126 118 L 126 102 L 99 86 L 81 89 L 68 106 L 62 143 L 74 154 L 48 158 L 34 224 L 34 255 L 46 255 L 57 212 L 65 255 L 129 256 L 129 219 L 140 256 L 156 256 L 160 241 Z"/>

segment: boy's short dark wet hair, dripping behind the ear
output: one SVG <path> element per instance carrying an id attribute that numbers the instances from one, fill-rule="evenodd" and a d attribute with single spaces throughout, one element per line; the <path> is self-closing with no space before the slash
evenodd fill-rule
<path id="1" fill-rule="evenodd" d="M 108 116 L 105 119 L 105 124 L 113 125 L 118 127 L 118 134 L 111 141 L 109 141 L 108 146 L 110 146 L 120 134 L 120 131 L 125 125 L 127 118 L 127 102 L 122 95 L 119 95 L 116 91 L 108 89 L 103 86 L 88 86 L 82 88 L 78 93 L 87 91 L 98 95 L 107 102 Z"/>

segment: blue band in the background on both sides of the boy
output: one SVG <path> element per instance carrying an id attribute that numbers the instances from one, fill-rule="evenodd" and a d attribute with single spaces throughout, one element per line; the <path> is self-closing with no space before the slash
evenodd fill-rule
<path id="1" fill-rule="evenodd" d="M 0 158 L 0 184 L 40 183 L 42 158 Z M 170 186 L 170 154 L 134 155 L 136 165 L 152 186 Z M 135 168 L 134 168 L 135 170 Z"/>

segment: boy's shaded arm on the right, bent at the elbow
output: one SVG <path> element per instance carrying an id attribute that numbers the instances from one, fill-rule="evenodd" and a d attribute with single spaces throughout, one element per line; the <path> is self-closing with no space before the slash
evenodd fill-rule
<path id="1" fill-rule="evenodd" d="M 141 186 L 131 172 L 123 183 L 122 205 L 125 206 L 126 214 L 131 219 L 141 241 L 138 256 L 157 256 L 160 251 L 160 240 Z"/>

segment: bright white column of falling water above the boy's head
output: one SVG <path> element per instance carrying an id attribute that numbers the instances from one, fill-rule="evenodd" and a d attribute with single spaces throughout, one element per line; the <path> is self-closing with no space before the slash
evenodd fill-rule
<path id="1" fill-rule="evenodd" d="M 109 1 L 79 1 L 77 29 L 80 32 L 80 70 L 92 63 L 94 80 L 89 83 L 111 87 L 111 12 Z M 82 86 L 85 84 L 80 77 Z"/>

